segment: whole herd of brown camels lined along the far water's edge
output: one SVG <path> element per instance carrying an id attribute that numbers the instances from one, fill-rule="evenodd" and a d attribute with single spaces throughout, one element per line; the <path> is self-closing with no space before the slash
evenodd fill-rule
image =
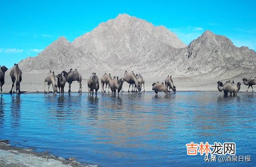
<path id="1" fill-rule="evenodd" d="M 5 66 L 0 66 L 0 83 L 1 83 L 1 94 L 3 92 L 3 85 L 5 83 L 5 72 L 8 70 L 7 67 Z M 10 94 L 12 94 L 13 92 L 15 92 L 14 90 L 16 90 L 17 94 L 21 93 L 21 89 L 20 89 L 20 83 L 22 81 L 22 71 L 19 68 L 19 66 L 17 64 L 14 64 L 13 68 L 10 71 L 10 77 L 12 80 L 12 86 L 11 86 L 11 90 L 10 90 Z M 57 80 L 56 80 L 57 78 Z M 56 94 L 58 92 L 58 88 L 59 88 L 59 93 L 60 94 L 64 94 L 64 87 L 66 82 L 68 83 L 68 92 L 70 92 L 71 89 L 71 84 L 73 81 L 77 81 L 79 83 L 79 90 L 78 92 L 82 92 L 82 76 L 81 74 L 78 72 L 77 69 L 73 70 L 70 69 L 68 72 L 66 71 L 62 71 L 60 74 L 58 75 L 54 75 L 54 71 L 49 71 L 44 83 L 45 83 L 45 93 L 49 93 L 49 88 L 50 85 L 52 85 L 52 91 L 53 94 Z M 106 92 L 106 89 L 108 87 L 108 92 L 109 92 L 109 88 L 112 91 L 112 94 L 119 94 L 120 91 L 123 91 L 123 83 L 127 82 L 129 83 L 129 89 L 128 92 L 130 91 L 130 87 L 132 85 L 132 91 L 141 91 L 142 85 L 143 85 L 143 91 L 145 91 L 145 81 L 143 79 L 143 77 L 139 74 L 136 74 L 132 71 L 132 72 L 127 72 L 125 71 L 123 74 L 123 78 L 118 78 L 118 77 L 113 77 L 111 76 L 110 73 L 104 73 L 104 75 L 101 77 L 100 81 L 98 76 L 96 75 L 95 72 L 92 73 L 92 75 L 88 78 L 87 80 L 87 86 L 88 86 L 88 93 L 89 95 L 94 95 L 94 91 L 95 91 L 95 95 L 97 96 L 97 92 L 100 88 L 100 83 L 101 83 L 101 92 Z M 248 85 L 248 88 L 246 91 L 248 91 L 248 89 L 251 87 L 252 91 L 253 91 L 253 87 L 252 85 L 256 85 L 256 77 L 253 78 L 251 77 L 249 80 L 247 80 L 246 78 L 242 79 L 243 83 L 245 85 Z M 14 85 L 15 83 L 15 85 Z M 237 82 L 237 84 L 230 81 L 227 81 L 225 84 L 223 84 L 221 81 L 217 82 L 217 88 L 219 91 L 224 91 L 224 95 L 228 95 L 228 93 L 230 93 L 230 96 L 233 94 L 233 96 L 237 95 L 237 92 L 239 92 L 240 87 L 241 87 L 241 83 Z M 48 86 L 48 89 L 46 91 L 46 85 Z M 13 89 L 15 86 L 15 89 Z M 104 87 L 105 86 L 105 87 Z M 13 89 L 13 90 L 12 90 Z M 156 95 L 158 94 L 159 91 L 163 91 L 165 95 L 168 95 L 168 92 L 172 91 L 176 91 L 176 87 L 173 84 L 173 80 L 172 80 L 172 76 L 167 76 L 166 80 L 164 81 L 164 83 L 159 83 L 159 82 L 155 82 L 152 84 L 152 90 L 155 91 Z"/>

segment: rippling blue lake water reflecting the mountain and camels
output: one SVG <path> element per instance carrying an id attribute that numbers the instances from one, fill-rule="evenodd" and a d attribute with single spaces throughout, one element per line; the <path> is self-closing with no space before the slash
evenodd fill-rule
<path id="1" fill-rule="evenodd" d="M 0 139 L 100 166 L 255 166 L 256 94 L 0 96 Z M 204 162 L 186 144 L 235 142 L 252 162 Z"/>

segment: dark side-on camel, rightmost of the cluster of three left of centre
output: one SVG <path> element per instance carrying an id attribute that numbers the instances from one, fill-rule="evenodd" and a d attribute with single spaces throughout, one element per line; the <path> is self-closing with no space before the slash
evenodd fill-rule
<path id="1" fill-rule="evenodd" d="M 82 76 L 81 74 L 77 71 L 77 69 L 75 69 L 73 71 L 73 69 L 71 68 L 69 70 L 69 72 L 66 71 L 62 71 L 61 73 L 63 73 L 66 82 L 68 82 L 68 92 L 70 92 L 71 89 L 71 83 L 73 81 L 77 81 L 79 83 L 79 90 L 78 92 L 82 92 Z"/>

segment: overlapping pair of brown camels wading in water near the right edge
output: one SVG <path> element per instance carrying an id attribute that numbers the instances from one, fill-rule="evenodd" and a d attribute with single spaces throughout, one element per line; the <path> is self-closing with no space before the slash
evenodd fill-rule
<path id="1" fill-rule="evenodd" d="M 229 81 L 227 81 L 225 84 L 223 84 L 221 81 L 217 82 L 218 84 L 218 91 L 224 91 L 224 95 L 228 95 L 228 93 L 230 93 L 230 96 L 235 96 L 237 94 L 237 92 L 239 92 L 240 87 L 241 87 L 241 83 L 238 82 L 236 85 L 230 83 Z"/>

